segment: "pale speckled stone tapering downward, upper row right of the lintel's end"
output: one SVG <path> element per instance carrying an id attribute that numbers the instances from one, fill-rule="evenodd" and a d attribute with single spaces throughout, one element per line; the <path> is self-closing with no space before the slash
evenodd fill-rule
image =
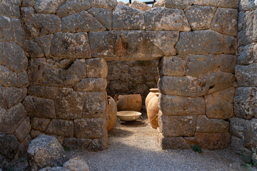
<path id="1" fill-rule="evenodd" d="M 189 6 L 185 9 L 186 18 L 193 30 L 208 29 L 216 8 L 211 6 Z"/>

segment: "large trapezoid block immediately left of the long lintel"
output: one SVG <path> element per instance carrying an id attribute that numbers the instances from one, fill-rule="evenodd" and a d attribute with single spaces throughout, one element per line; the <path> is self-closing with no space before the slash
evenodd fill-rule
<path id="1" fill-rule="evenodd" d="M 91 58 L 87 33 L 56 33 L 50 56 L 57 58 Z"/>

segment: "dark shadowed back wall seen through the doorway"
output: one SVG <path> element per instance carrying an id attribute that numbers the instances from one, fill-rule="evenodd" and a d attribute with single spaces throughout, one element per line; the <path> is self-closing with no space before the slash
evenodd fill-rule
<path id="1" fill-rule="evenodd" d="M 149 89 L 157 88 L 159 60 L 107 61 L 107 64 L 108 95 L 141 94 L 144 106 Z"/>

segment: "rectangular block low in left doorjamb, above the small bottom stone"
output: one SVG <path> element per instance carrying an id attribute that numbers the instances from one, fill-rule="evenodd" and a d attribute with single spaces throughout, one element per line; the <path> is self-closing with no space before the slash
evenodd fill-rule
<path id="1" fill-rule="evenodd" d="M 102 138 L 106 131 L 104 119 L 84 118 L 74 120 L 74 136 L 76 138 Z"/>

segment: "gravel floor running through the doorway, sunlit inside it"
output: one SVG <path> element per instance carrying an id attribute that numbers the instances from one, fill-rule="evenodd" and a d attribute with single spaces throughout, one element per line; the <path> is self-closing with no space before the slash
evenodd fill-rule
<path id="1" fill-rule="evenodd" d="M 82 156 L 90 170 L 244 170 L 241 158 L 230 149 L 161 150 L 157 142 L 157 130 L 144 117 L 126 127 L 116 125 L 109 133 L 109 146 L 103 152 L 71 150 L 69 157 Z M 121 121 L 119 123 L 122 123 Z M 23 162 L 22 162 L 23 161 Z M 26 170 L 27 163 L 19 159 L 12 170 Z"/>

